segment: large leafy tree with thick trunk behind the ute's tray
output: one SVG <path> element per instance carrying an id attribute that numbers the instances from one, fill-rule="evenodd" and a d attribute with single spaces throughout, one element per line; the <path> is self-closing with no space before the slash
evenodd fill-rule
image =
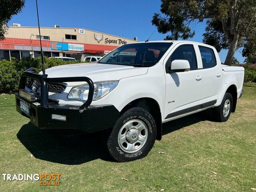
<path id="1" fill-rule="evenodd" d="M 225 64 L 231 65 L 235 50 L 243 45 L 244 36 L 252 32 L 256 0 L 162 0 L 160 11 L 152 24 L 160 33 L 171 32 L 166 39 L 192 38 L 192 22 L 206 20 L 204 42 L 217 48 L 228 49 Z"/>

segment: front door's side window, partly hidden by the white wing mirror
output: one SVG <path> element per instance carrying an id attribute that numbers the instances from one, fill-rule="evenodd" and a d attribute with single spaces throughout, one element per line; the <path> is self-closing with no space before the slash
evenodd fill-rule
<path id="1" fill-rule="evenodd" d="M 193 45 L 181 45 L 171 55 L 171 62 L 174 60 L 188 60 L 190 70 L 197 69 L 196 54 Z"/>

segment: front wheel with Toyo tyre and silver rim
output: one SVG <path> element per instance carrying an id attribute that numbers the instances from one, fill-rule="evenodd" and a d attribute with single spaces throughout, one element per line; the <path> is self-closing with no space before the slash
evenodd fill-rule
<path id="1" fill-rule="evenodd" d="M 143 108 L 134 107 L 116 121 L 107 141 L 110 155 L 118 162 L 133 161 L 148 154 L 156 140 L 156 122 Z"/>

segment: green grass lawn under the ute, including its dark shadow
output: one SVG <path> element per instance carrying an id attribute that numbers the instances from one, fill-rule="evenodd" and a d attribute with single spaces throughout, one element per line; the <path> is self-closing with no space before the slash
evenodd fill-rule
<path id="1" fill-rule="evenodd" d="M 256 83 L 244 84 L 244 95 L 227 122 L 214 122 L 206 110 L 164 124 L 162 140 L 141 160 L 114 162 L 104 146 L 104 134 L 40 130 L 16 112 L 13 94 L 0 94 L 0 191 L 256 188 Z M 60 173 L 60 186 L 3 181 L 2 173 Z"/>

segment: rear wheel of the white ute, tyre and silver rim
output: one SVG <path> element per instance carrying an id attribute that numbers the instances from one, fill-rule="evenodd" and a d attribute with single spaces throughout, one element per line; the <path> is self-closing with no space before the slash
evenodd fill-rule
<path id="1" fill-rule="evenodd" d="M 230 93 L 225 93 L 221 104 L 213 109 L 214 118 L 218 122 L 228 120 L 233 106 L 233 98 Z"/>

